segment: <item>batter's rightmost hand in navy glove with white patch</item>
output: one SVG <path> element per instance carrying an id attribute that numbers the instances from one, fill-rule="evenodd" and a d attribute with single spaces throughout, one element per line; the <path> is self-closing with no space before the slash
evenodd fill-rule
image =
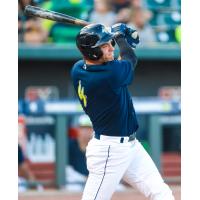
<path id="1" fill-rule="evenodd" d="M 127 42 L 129 43 L 129 45 L 134 49 L 140 42 L 138 32 L 130 27 L 126 29 L 125 38 Z"/>

